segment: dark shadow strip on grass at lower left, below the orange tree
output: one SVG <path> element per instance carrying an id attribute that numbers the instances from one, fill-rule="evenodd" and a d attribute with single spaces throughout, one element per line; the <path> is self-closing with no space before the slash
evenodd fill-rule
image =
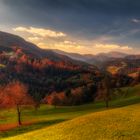
<path id="1" fill-rule="evenodd" d="M 34 130 L 38 130 L 38 129 L 41 129 L 43 127 L 47 127 L 47 126 L 50 126 L 53 124 L 57 124 L 57 123 L 60 123 L 63 121 L 66 121 L 66 120 L 58 119 L 58 120 L 41 121 L 41 122 L 33 123 L 31 125 L 16 127 L 14 129 L 11 129 L 8 131 L 0 132 L 0 138 L 6 138 L 6 137 L 20 135 L 20 134 L 27 133 L 27 132 L 34 131 Z"/>

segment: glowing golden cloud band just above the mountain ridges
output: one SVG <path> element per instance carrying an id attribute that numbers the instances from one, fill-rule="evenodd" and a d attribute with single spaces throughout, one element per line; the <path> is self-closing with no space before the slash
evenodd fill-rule
<path id="1" fill-rule="evenodd" d="M 17 27 L 14 31 L 26 33 L 26 39 L 35 43 L 43 49 L 59 49 L 66 52 L 81 54 L 97 54 L 101 52 L 119 51 L 134 52 L 135 50 L 128 45 L 118 45 L 109 43 L 112 36 L 100 36 L 92 42 L 78 41 L 69 35 L 53 30 L 34 28 L 34 27 Z M 27 35 L 28 34 L 28 35 Z M 61 39 L 60 39 L 61 38 Z"/>

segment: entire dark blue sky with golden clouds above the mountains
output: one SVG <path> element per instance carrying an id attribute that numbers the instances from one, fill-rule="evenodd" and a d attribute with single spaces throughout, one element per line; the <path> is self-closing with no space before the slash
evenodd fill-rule
<path id="1" fill-rule="evenodd" d="M 0 30 L 43 49 L 140 54 L 140 0 L 0 0 Z"/>

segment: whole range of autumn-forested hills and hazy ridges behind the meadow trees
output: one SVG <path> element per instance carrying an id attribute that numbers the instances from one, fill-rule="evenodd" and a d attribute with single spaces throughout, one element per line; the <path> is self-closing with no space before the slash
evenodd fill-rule
<path id="1" fill-rule="evenodd" d="M 115 83 L 124 80 L 125 86 L 140 71 L 140 57 L 119 52 L 81 55 L 41 49 L 19 36 L 0 32 L 0 85 L 20 81 L 28 85 L 29 94 L 37 100 L 68 89 L 77 91 L 91 85 L 97 89 L 103 70 L 112 73 Z"/>

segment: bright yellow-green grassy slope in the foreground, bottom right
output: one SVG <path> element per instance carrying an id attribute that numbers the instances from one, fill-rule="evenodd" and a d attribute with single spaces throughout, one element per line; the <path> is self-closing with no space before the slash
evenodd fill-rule
<path id="1" fill-rule="evenodd" d="M 140 139 L 140 104 L 92 113 L 9 140 Z"/>

